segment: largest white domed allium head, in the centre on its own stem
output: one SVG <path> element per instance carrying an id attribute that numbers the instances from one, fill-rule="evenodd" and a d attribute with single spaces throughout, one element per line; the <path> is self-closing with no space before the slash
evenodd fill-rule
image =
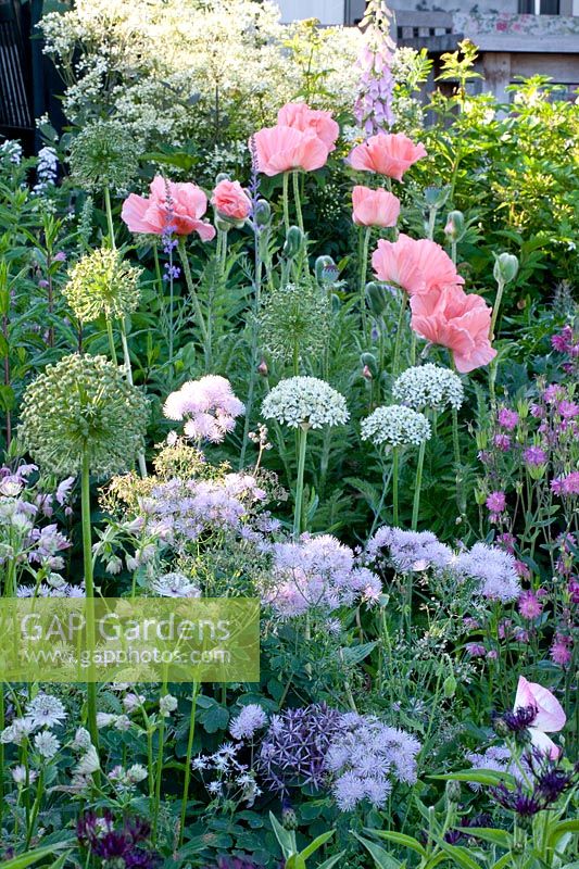
<path id="1" fill-rule="evenodd" d="M 344 396 L 317 377 L 280 380 L 265 396 L 262 414 L 290 428 L 343 426 L 350 418 Z"/>

